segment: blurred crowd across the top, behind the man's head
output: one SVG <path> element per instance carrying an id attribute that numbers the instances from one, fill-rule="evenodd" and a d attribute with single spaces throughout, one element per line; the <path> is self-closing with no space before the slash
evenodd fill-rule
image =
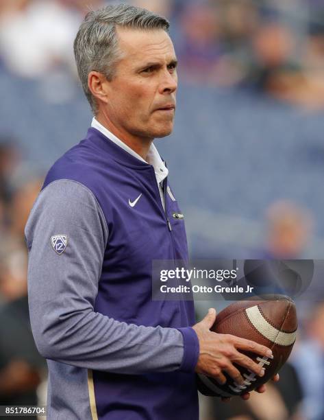
<path id="1" fill-rule="evenodd" d="M 88 10 L 105 3 L 109 1 L 1 0 L 1 65 L 23 78 L 50 76 L 62 82 L 69 75 L 76 80 L 72 43 L 77 27 Z M 129 3 L 171 20 L 184 80 L 240 86 L 298 106 L 324 107 L 322 1 Z M 55 89 L 51 95 L 55 97 Z"/>

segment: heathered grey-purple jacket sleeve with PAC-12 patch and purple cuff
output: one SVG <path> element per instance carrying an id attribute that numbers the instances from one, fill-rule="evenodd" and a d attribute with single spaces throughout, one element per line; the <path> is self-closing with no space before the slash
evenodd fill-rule
<path id="1" fill-rule="evenodd" d="M 45 358 L 126 374 L 195 370 L 190 327 L 138 326 L 94 311 L 108 227 L 90 189 L 73 180 L 47 185 L 25 237 L 32 331 Z"/>

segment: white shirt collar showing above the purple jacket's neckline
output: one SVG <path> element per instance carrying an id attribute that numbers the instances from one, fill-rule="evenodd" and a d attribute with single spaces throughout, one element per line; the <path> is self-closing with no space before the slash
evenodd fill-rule
<path id="1" fill-rule="evenodd" d="M 136 159 L 139 159 L 142 162 L 149 163 L 153 166 L 156 180 L 158 181 L 158 184 L 166 178 L 169 174 L 169 170 L 164 165 L 161 156 L 155 148 L 155 145 L 151 143 L 151 146 L 149 148 L 149 152 L 147 153 L 147 160 L 145 161 L 142 156 L 140 156 L 138 153 L 134 152 L 133 149 L 129 148 L 127 144 L 125 144 L 123 141 L 121 141 L 118 137 L 116 137 L 108 128 L 105 128 L 102 124 L 99 123 L 99 121 L 93 117 L 91 122 L 91 127 L 96 128 L 98 131 L 100 131 L 107 139 L 113 141 L 116 145 L 119 145 L 120 148 L 128 152 L 129 154 L 132 154 L 132 156 L 136 157 Z"/>

